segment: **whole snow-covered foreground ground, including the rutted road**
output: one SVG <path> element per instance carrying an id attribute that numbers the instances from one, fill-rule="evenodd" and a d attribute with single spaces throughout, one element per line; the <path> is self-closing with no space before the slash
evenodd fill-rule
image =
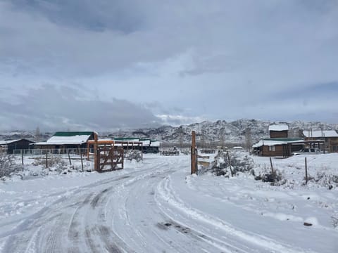
<path id="1" fill-rule="evenodd" d="M 256 174 L 270 169 L 253 160 Z M 0 252 L 338 251 L 338 154 L 308 156 L 307 185 L 304 156 L 273 159 L 281 186 L 190 176 L 189 155 L 144 155 L 104 174 L 41 176 L 29 161 L 37 176 L 0 181 Z"/>

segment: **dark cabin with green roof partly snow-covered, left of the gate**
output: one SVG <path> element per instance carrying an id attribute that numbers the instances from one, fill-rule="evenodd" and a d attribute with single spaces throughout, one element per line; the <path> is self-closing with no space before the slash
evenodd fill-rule
<path id="1" fill-rule="evenodd" d="M 87 141 L 94 140 L 94 131 L 58 131 L 45 142 L 34 143 L 35 149 L 65 150 L 87 148 Z"/>

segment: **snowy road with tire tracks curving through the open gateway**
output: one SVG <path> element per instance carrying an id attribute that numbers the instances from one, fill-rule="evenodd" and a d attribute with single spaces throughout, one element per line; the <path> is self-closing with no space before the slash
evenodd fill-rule
<path id="1" fill-rule="evenodd" d="M 215 193 L 225 187 L 219 179 L 204 186 L 189 176 L 188 156 L 149 155 L 129 166 L 133 169 L 26 198 L 26 209 L 1 219 L 0 251 L 330 252 L 337 246 L 333 229 L 316 228 L 304 237 L 308 228 L 295 222 L 258 220 L 257 209 Z M 230 183 L 232 189 L 241 187 L 240 181 Z M 45 203 L 39 210 L 33 205 L 38 198 Z M 306 246 L 318 236 L 325 247 Z"/>

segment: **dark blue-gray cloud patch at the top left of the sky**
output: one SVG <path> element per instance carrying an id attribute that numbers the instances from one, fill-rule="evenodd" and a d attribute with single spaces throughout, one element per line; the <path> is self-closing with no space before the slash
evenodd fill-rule
<path id="1" fill-rule="evenodd" d="M 145 22 L 137 1 L 67 1 L 67 0 L 13 0 L 15 11 L 45 16 L 57 25 L 83 30 L 130 33 L 139 30 Z"/>

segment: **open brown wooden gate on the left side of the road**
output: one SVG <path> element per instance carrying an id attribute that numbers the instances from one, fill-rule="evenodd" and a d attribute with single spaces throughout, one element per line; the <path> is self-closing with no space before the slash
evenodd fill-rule
<path id="1" fill-rule="evenodd" d="M 96 151 L 96 171 L 106 172 L 123 169 L 124 152 L 122 147 L 99 147 Z"/>

